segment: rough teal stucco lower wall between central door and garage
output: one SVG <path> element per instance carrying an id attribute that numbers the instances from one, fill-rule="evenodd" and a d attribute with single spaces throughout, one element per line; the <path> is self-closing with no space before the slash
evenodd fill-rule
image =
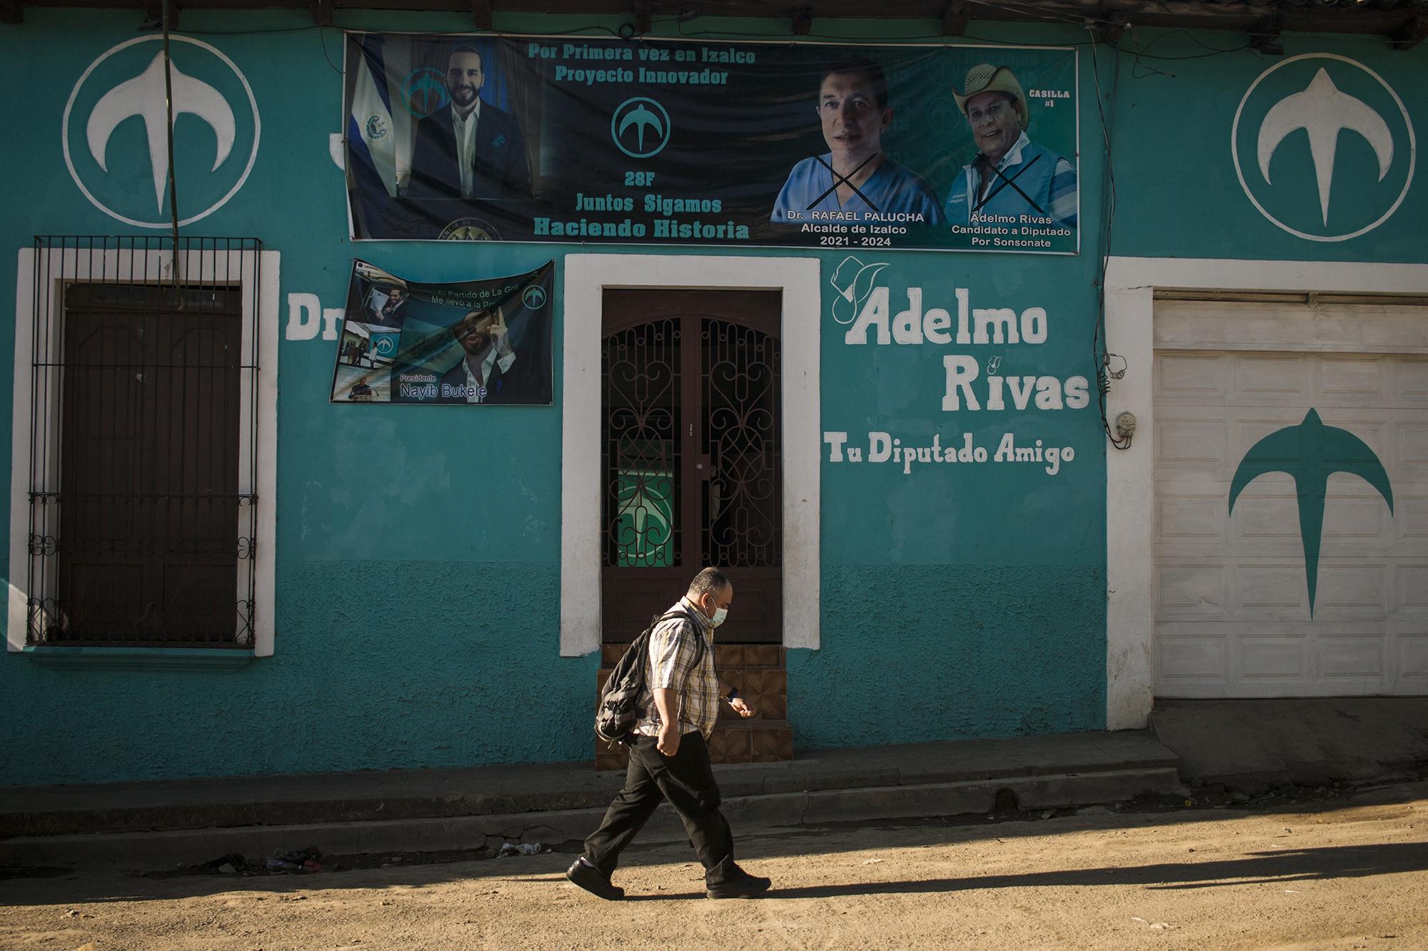
<path id="1" fill-rule="evenodd" d="M 788 651 L 794 747 L 1101 730 L 1104 605 L 1100 568 L 827 567 L 823 647 Z"/>

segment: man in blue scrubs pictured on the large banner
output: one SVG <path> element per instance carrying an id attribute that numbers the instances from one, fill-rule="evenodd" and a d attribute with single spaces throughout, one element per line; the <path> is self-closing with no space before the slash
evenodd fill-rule
<path id="1" fill-rule="evenodd" d="M 942 223 L 932 187 L 883 154 L 892 107 L 881 66 L 861 57 L 830 66 L 818 86 L 815 111 L 830 151 L 794 166 L 770 221 L 878 221 L 891 220 L 878 216 L 914 214 L 921 216 L 914 223 Z M 840 214 L 830 218 L 814 211 Z"/>

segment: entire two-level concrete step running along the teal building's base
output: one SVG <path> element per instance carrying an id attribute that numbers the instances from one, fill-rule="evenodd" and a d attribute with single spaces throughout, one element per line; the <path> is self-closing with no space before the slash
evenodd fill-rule
<path id="1" fill-rule="evenodd" d="M 714 767 L 740 830 L 985 812 L 1175 794 L 1147 731 L 828 750 Z M 0 865 L 163 868 L 316 845 L 324 854 L 558 842 L 594 830 L 618 774 L 587 763 L 0 788 Z M 664 830 L 664 831 L 661 831 Z M 643 841 L 683 831 L 668 811 Z"/>

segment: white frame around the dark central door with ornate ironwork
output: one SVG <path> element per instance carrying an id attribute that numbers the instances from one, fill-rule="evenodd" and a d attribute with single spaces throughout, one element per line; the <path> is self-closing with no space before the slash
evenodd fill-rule
<path id="1" fill-rule="evenodd" d="M 568 254 L 561 433 L 560 654 L 600 650 L 600 344 L 605 288 L 783 293 L 783 628 L 785 647 L 820 644 L 818 407 L 821 264 L 814 257 Z"/>

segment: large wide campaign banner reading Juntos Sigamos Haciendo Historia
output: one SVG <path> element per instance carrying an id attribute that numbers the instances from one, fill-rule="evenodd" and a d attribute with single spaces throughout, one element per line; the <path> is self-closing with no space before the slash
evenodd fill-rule
<path id="1" fill-rule="evenodd" d="M 1074 254 L 1077 51 L 348 33 L 351 236 Z"/>

